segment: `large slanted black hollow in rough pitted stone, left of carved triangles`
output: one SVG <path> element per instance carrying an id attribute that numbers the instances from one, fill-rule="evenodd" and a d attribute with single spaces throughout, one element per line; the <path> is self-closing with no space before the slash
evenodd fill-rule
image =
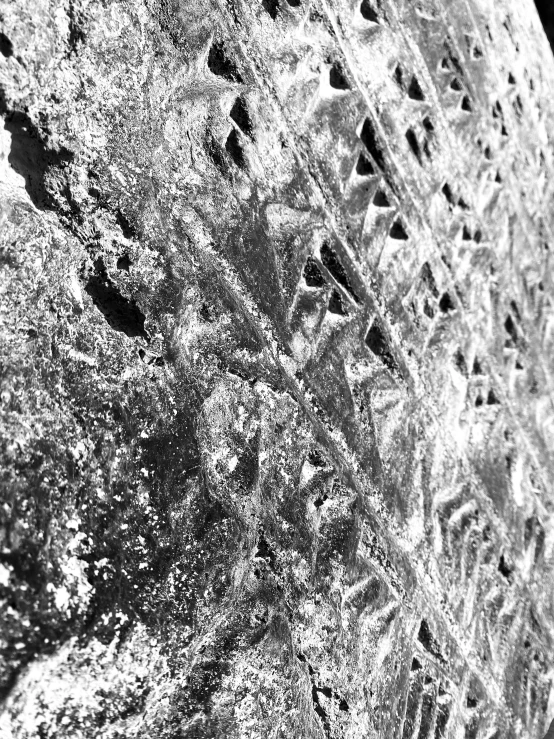
<path id="1" fill-rule="evenodd" d="M 144 313 L 134 301 L 119 292 L 101 259 L 96 260 L 94 268 L 95 272 L 89 277 L 85 290 L 108 324 L 129 337 L 142 336 L 148 339 L 144 329 Z"/>

